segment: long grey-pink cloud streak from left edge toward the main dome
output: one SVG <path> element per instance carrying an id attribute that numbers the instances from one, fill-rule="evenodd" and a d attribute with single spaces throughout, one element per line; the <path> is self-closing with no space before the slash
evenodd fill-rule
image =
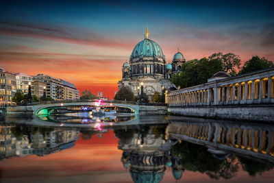
<path id="1" fill-rule="evenodd" d="M 132 47 L 130 40 L 119 40 L 108 36 L 99 36 L 95 32 L 72 27 L 56 27 L 32 25 L 23 23 L 0 22 L 0 34 L 8 36 L 23 36 L 40 38 L 57 42 L 67 42 L 77 45 L 94 45 L 99 47 Z"/>

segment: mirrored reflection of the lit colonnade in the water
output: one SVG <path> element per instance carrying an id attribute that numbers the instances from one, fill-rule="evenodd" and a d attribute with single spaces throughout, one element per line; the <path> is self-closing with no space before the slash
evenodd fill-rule
<path id="1" fill-rule="evenodd" d="M 171 123 L 173 138 L 274 163 L 274 126 L 262 123 Z"/>

